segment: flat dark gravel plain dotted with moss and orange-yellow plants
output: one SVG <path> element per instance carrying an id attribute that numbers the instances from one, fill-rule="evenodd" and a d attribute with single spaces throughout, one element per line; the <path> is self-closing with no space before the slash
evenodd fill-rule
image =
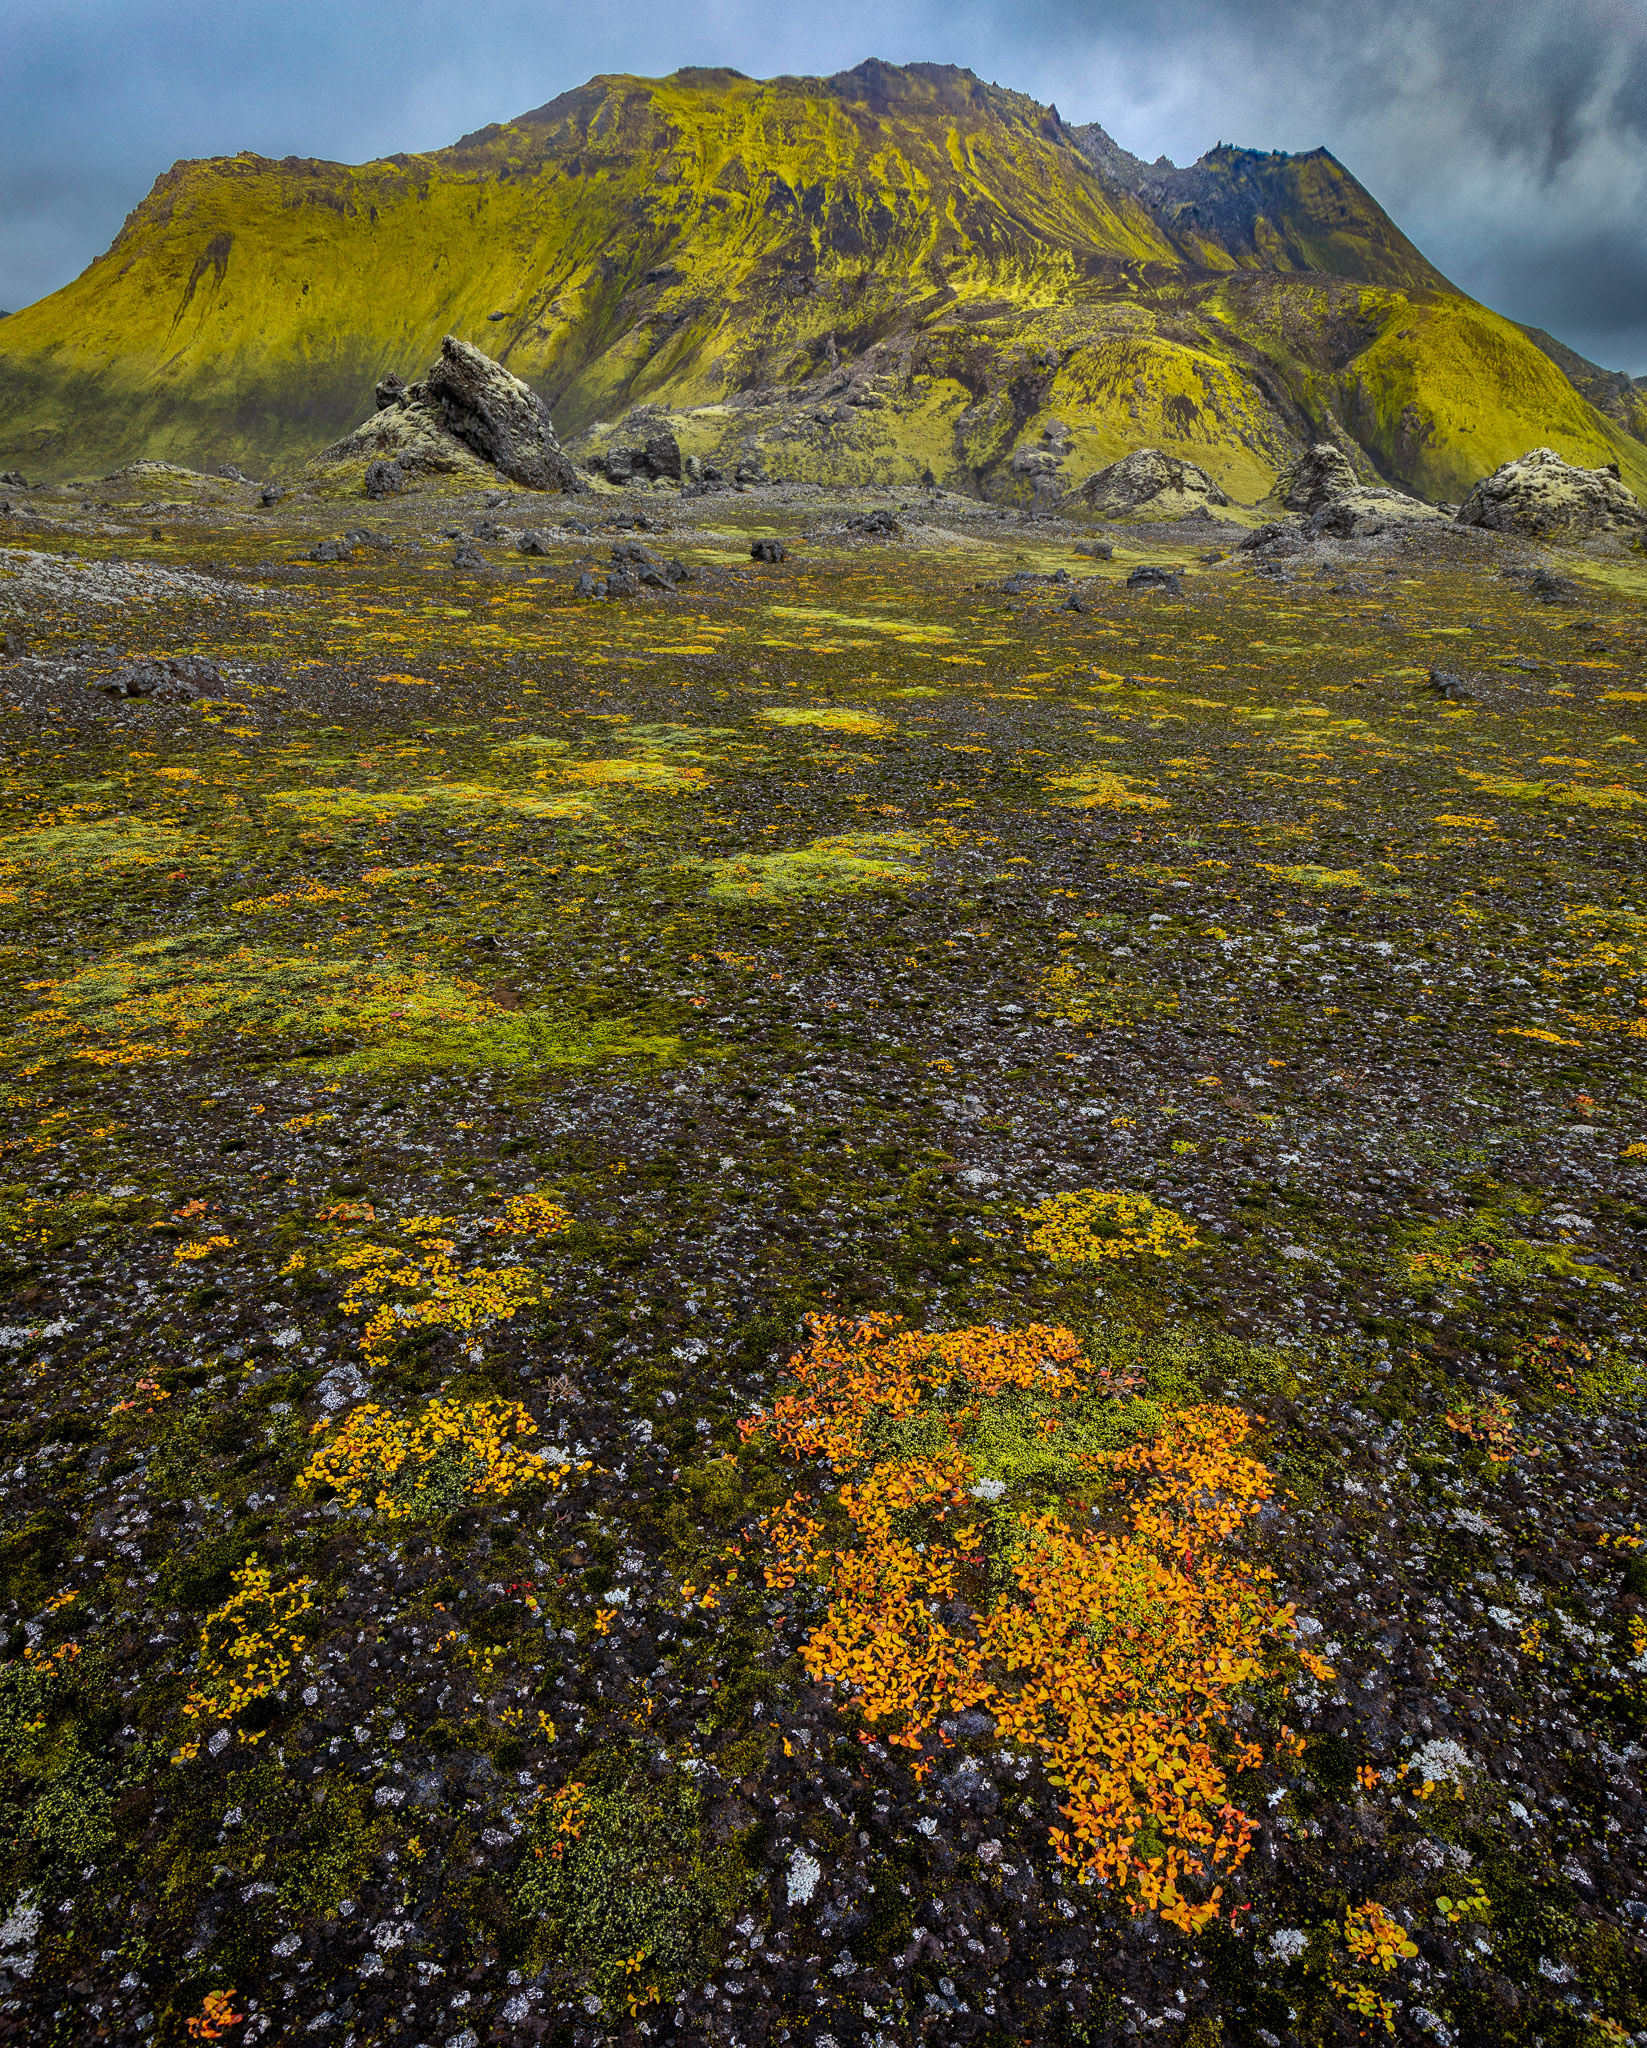
<path id="1" fill-rule="evenodd" d="M 31 504 L 4 2038 L 1647 2028 L 1631 565 Z"/>

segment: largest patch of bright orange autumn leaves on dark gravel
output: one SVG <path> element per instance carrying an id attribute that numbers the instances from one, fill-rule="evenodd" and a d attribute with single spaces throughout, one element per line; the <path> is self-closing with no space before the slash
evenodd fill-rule
<path id="1" fill-rule="evenodd" d="M 1231 1774 L 1262 1761 L 1231 1726 L 1241 1688 L 1280 1661 L 1315 1667 L 1270 1575 L 1233 1550 L 1272 1491 L 1241 1450 L 1248 1417 L 1149 1409 L 1147 1440 L 1078 1448 L 1071 1485 L 1016 1503 L 967 1450 L 987 1403 L 1028 1403 L 1057 1448 L 1090 1442 L 1094 1403 L 1131 1391 L 1071 1331 L 819 1317 L 791 1376 L 746 1432 L 842 1475 L 834 1499 L 797 1493 L 764 1528 L 768 1587 L 830 1589 L 807 1669 L 910 1749 L 940 1714 L 985 1708 L 1061 1788 L 1065 1864 L 1186 1931 L 1215 1919 L 1254 1827 Z M 899 1454 L 912 1421 L 920 1448 Z"/>

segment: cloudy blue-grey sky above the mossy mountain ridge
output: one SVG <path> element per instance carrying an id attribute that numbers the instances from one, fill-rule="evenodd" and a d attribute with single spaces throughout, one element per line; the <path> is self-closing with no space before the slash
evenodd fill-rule
<path id="1" fill-rule="evenodd" d="M 430 150 L 594 72 L 965 63 L 1139 156 L 1325 143 L 1467 291 L 1647 373 L 1647 0 L 0 0 L 0 305 L 182 156 Z"/>

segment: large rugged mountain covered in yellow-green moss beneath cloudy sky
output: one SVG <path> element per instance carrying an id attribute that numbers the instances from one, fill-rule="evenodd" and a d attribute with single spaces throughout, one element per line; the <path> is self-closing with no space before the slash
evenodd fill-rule
<path id="1" fill-rule="evenodd" d="M 1635 416 L 1325 152 L 1147 166 L 971 72 L 879 61 L 594 78 L 361 166 L 176 164 L 0 322 L 0 467 L 291 467 L 447 332 L 574 453 L 649 408 L 768 475 L 1006 498 L 1153 444 L 1250 502 L 1317 438 L 1436 500 L 1540 442 L 1647 487 Z"/>

